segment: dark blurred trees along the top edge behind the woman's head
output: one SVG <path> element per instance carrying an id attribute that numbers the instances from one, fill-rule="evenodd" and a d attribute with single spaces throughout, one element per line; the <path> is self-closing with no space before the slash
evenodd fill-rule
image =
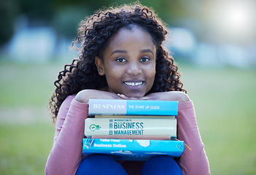
<path id="1" fill-rule="evenodd" d="M 194 0 L 200 1 L 200 0 Z M 193 2 L 194 2 L 193 1 Z M 0 3 L 1 43 L 13 34 L 16 15 L 25 15 L 30 26 L 53 26 L 58 35 L 74 38 L 80 20 L 101 7 L 129 4 L 135 0 L 8 0 Z M 185 26 L 185 18 L 192 16 L 189 0 L 141 0 L 141 4 L 152 7 L 159 17 L 171 27 Z M 194 10 L 195 12 L 195 10 Z M 7 19 L 7 20 L 6 20 Z"/>

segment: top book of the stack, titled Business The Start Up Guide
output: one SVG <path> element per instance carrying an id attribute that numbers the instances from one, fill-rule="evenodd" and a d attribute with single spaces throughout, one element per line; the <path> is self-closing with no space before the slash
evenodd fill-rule
<path id="1" fill-rule="evenodd" d="M 89 99 L 88 115 L 174 115 L 178 114 L 178 101 Z"/>

